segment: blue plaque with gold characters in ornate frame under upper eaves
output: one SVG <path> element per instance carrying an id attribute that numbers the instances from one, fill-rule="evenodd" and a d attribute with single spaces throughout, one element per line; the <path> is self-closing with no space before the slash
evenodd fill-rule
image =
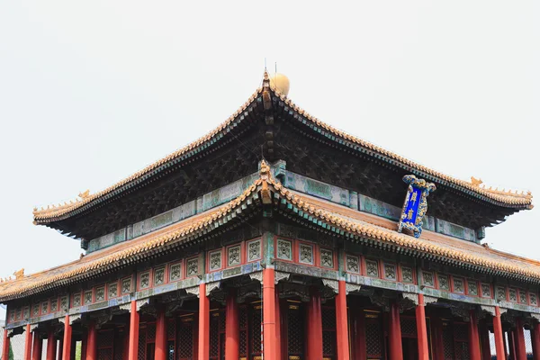
<path id="1" fill-rule="evenodd" d="M 428 211 L 428 195 L 437 190 L 437 187 L 424 179 L 417 179 L 415 175 L 405 175 L 403 181 L 409 184 L 409 188 L 401 210 L 398 231 L 407 232 L 419 238 L 422 234 L 422 221 Z"/>

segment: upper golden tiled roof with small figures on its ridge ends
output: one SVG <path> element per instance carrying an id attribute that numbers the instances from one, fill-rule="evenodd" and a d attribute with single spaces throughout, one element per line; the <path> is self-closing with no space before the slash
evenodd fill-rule
<path id="1" fill-rule="evenodd" d="M 171 166 L 174 166 L 177 162 L 184 160 L 187 157 L 193 157 L 205 148 L 210 147 L 212 144 L 220 141 L 225 134 L 229 132 L 230 126 L 236 126 L 238 121 L 241 121 L 243 115 L 247 115 L 247 108 L 253 103 L 257 102 L 257 98 L 260 95 L 266 94 L 269 97 L 269 93 L 272 92 L 275 96 L 279 97 L 288 106 L 295 115 L 301 116 L 308 122 L 308 126 L 317 129 L 321 134 L 327 135 L 334 140 L 345 144 L 349 147 L 359 147 L 370 157 L 383 159 L 384 161 L 392 164 L 393 166 L 400 166 L 402 169 L 416 173 L 416 175 L 426 176 L 431 181 L 436 181 L 437 184 L 445 184 L 455 188 L 457 191 L 466 194 L 473 194 L 474 197 L 479 198 L 484 202 L 490 202 L 498 206 L 522 210 L 532 209 L 532 194 L 518 193 L 517 191 L 506 191 L 499 189 L 487 188 L 482 184 L 482 181 L 478 181 L 472 177 L 472 180 L 464 181 L 455 177 L 445 175 L 432 169 L 428 166 L 420 165 L 406 157 L 393 153 L 392 151 L 378 147 L 364 139 L 359 139 L 353 135 L 348 134 L 345 131 L 338 130 L 324 121 L 311 116 L 308 112 L 305 112 L 302 108 L 297 106 L 291 99 L 281 94 L 277 89 L 270 87 L 268 82 L 268 75 L 265 73 L 265 81 L 263 86 L 258 88 L 257 91 L 252 94 L 247 102 L 238 108 L 229 119 L 222 122 L 217 128 L 211 130 L 208 134 L 200 139 L 193 141 L 191 144 L 180 148 L 172 154 L 159 159 L 157 162 L 146 166 L 121 180 L 112 186 L 107 187 L 103 191 L 98 193 L 81 193 L 79 198 L 74 202 L 65 202 L 64 204 L 51 205 L 46 209 L 34 209 L 33 217 L 36 224 L 49 224 L 54 221 L 67 219 L 81 211 L 93 208 L 98 203 L 112 199 L 119 193 L 130 192 L 134 186 L 151 178 L 157 178 L 161 173 L 166 172 Z M 265 99 L 263 99 L 265 100 Z"/>

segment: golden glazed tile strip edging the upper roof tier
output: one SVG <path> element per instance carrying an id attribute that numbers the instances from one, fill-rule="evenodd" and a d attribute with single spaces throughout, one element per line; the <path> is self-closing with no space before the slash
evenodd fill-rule
<path id="1" fill-rule="evenodd" d="M 268 79 L 267 74 L 265 73 L 265 79 Z M 265 83 L 267 84 L 267 83 Z M 90 204 L 91 202 L 94 202 L 98 199 L 103 199 L 106 196 L 109 196 L 113 191 L 121 188 L 124 185 L 130 186 L 130 183 L 132 183 L 135 180 L 143 179 L 149 176 L 152 176 L 156 174 L 159 171 L 160 166 L 164 166 L 171 161 L 174 161 L 175 159 L 182 157 L 190 151 L 197 150 L 198 148 L 201 148 L 202 146 L 208 144 L 212 140 L 220 139 L 219 134 L 221 131 L 225 130 L 229 124 L 231 124 L 235 119 L 237 119 L 238 115 L 242 114 L 246 111 L 247 107 L 256 101 L 257 96 L 259 94 L 262 94 L 265 90 L 268 90 L 266 87 L 260 87 L 257 89 L 257 91 L 252 94 L 249 99 L 247 99 L 247 102 L 244 103 L 242 106 L 238 108 L 236 112 L 234 112 L 231 116 L 229 116 L 229 119 L 222 122 L 220 126 L 215 128 L 214 130 L 211 130 L 209 133 L 204 135 L 202 138 L 197 139 L 193 141 L 191 144 L 185 146 L 184 148 L 180 148 L 173 152 L 172 154 L 169 154 L 166 157 L 163 157 L 157 162 L 146 166 L 145 168 L 139 170 L 133 175 L 130 175 L 126 177 L 125 179 L 121 180 L 120 182 L 113 184 L 112 186 L 104 189 L 103 191 L 100 191 L 98 193 L 93 194 L 84 194 L 80 200 L 76 199 L 75 202 L 69 202 L 64 204 L 58 204 L 58 205 L 51 205 L 48 206 L 46 209 L 34 209 L 33 216 L 34 221 L 43 221 L 43 220 L 50 220 L 55 219 L 58 217 L 69 215 L 70 212 L 76 211 L 77 209 Z M 505 191 L 505 190 L 498 190 L 498 189 L 491 189 L 487 188 L 485 186 L 482 186 L 481 184 L 471 181 L 464 181 L 461 179 L 457 179 L 455 177 L 445 175 L 443 173 L 440 173 L 428 166 L 420 165 L 419 163 L 416 163 L 406 157 L 401 157 L 400 155 L 393 153 L 392 151 L 386 150 L 384 148 L 381 148 L 379 146 L 374 145 L 373 143 L 366 141 L 364 139 L 357 138 L 356 136 L 350 135 L 345 131 L 338 130 L 328 123 L 324 121 L 320 121 L 314 116 L 311 116 L 310 113 L 303 110 L 300 106 L 293 103 L 293 101 L 286 97 L 284 94 L 281 94 L 277 89 L 271 88 L 271 90 L 274 92 L 276 96 L 278 96 L 287 106 L 291 107 L 294 112 L 301 115 L 303 118 L 305 118 L 307 121 L 310 121 L 311 124 L 320 127 L 321 129 L 324 129 L 326 131 L 329 131 L 329 133 L 345 139 L 347 141 L 350 141 L 353 144 L 356 144 L 360 147 L 366 148 L 369 151 L 371 151 L 375 156 L 383 156 L 390 159 L 392 162 L 401 163 L 404 167 L 410 167 L 412 169 L 416 169 L 422 173 L 435 176 L 439 179 L 439 183 L 445 184 L 455 184 L 458 187 L 460 187 L 462 190 L 477 193 L 479 195 L 485 196 L 488 199 L 491 199 L 495 202 L 500 202 L 502 204 L 510 205 L 510 206 L 519 206 L 523 207 L 525 209 L 532 209 L 533 208 L 533 202 L 532 202 L 532 194 L 530 192 L 527 193 L 518 193 L 517 191 Z"/>

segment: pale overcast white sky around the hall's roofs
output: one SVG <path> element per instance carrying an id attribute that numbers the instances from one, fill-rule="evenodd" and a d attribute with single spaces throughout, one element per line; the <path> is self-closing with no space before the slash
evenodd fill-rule
<path id="1" fill-rule="evenodd" d="M 338 129 L 540 196 L 539 15 L 526 0 L 0 2 L 0 276 L 79 257 L 32 208 L 199 138 L 261 85 L 265 61 Z M 519 212 L 486 241 L 540 260 L 538 223 Z"/>

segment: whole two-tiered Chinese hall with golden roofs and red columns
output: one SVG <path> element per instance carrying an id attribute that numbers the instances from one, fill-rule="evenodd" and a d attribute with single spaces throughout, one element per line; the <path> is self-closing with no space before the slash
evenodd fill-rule
<path id="1" fill-rule="evenodd" d="M 540 360 L 540 263 L 482 245 L 532 195 L 336 130 L 264 80 L 206 136 L 34 209 L 85 254 L 0 283 L 3 359 Z M 437 151 L 433 149 L 432 151 Z M 493 335 L 490 335 L 490 334 Z M 508 341 L 507 341 L 508 340 Z"/>

